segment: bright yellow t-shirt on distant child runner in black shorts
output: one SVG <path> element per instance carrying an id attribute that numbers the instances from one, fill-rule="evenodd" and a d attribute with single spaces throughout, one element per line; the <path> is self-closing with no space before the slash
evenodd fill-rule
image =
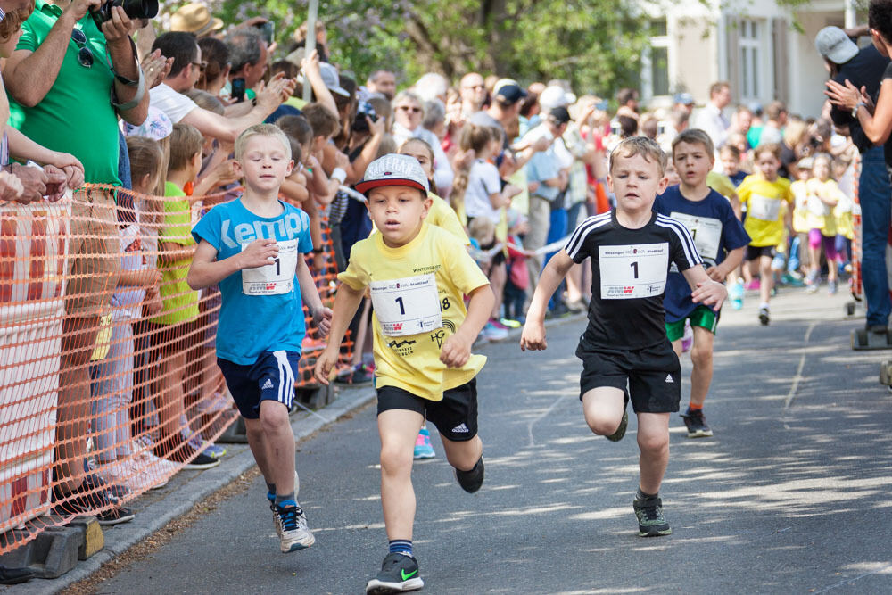
<path id="1" fill-rule="evenodd" d="M 793 202 L 789 179 L 777 178 L 769 182 L 758 174 L 747 176 L 740 182 L 737 195 L 747 207 L 747 220 L 743 227 L 749 234 L 749 245 L 773 246 L 783 239 L 783 216 L 787 205 Z"/>

